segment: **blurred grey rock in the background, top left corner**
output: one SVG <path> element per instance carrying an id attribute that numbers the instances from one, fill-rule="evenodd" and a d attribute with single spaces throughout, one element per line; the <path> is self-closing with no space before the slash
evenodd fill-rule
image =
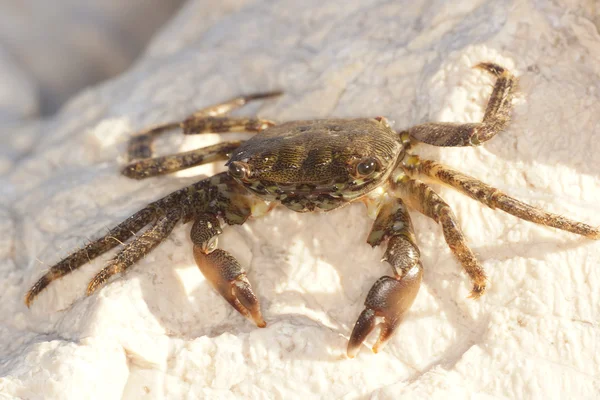
<path id="1" fill-rule="evenodd" d="M 0 122 L 125 70 L 182 0 L 0 0 Z"/>

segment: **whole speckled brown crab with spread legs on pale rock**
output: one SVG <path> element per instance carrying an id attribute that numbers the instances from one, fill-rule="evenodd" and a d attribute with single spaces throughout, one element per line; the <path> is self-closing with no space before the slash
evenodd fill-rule
<path id="1" fill-rule="evenodd" d="M 190 115 L 182 122 L 159 125 L 133 136 L 129 163 L 122 173 L 146 179 L 218 160 L 228 171 L 177 190 L 136 212 L 119 225 L 52 266 L 27 292 L 25 304 L 52 281 L 130 240 L 88 284 L 91 295 L 109 278 L 127 271 L 167 238 L 178 223 L 193 222 L 191 241 L 196 264 L 214 289 L 241 315 L 265 327 L 259 300 L 244 268 L 218 248 L 226 225 L 241 225 L 277 205 L 292 211 L 332 211 L 352 202 L 365 203 L 375 218 L 367 237 L 385 245 L 382 261 L 391 276 L 379 278 L 350 335 L 347 355 L 356 356 L 379 326 L 377 352 L 397 330 L 419 291 L 423 275 L 409 207 L 432 218 L 472 281 L 470 297 L 486 288 L 486 275 L 448 204 L 424 181 L 443 183 L 518 218 L 600 239 L 600 230 L 527 205 L 500 190 L 436 161 L 413 153 L 419 143 L 477 146 L 508 125 L 517 78 L 506 68 L 484 62 L 475 66 L 495 77 L 483 120 L 478 123 L 431 122 L 395 131 L 383 117 L 292 121 L 282 124 L 226 114 L 244 104 L 281 92 L 241 96 Z M 247 141 L 227 141 L 185 153 L 154 157 L 154 139 L 168 130 L 184 134 L 256 132 Z M 146 229 L 144 229 L 146 228 Z M 143 232 L 142 232 L 143 231 Z M 141 233 L 139 233 L 141 232 Z"/>

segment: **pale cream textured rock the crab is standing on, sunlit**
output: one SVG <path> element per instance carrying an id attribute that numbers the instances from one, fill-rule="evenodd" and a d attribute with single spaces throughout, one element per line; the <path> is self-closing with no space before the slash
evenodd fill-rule
<path id="1" fill-rule="evenodd" d="M 243 114 L 276 120 L 386 115 L 401 128 L 482 117 L 501 63 L 521 77 L 514 121 L 485 147 L 436 157 L 554 212 L 600 224 L 600 37 L 593 3 L 551 1 L 190 2 L 135 68 L 21 127 L 33 151 L 0 170 L 0 393 L 22 398 L 591 398 L 600 390 L 600 244 L 485 209 L 450 190 L 489 291 L 470 285 L 434 223 L 414 215 L 425 265 L 411 313 L 385 351 L 345 358 L 383 249 L 354 205 L 276 209 L 220 243 L 248 267 L 268 326 L 243 320 L 191 255 L 189 226 L 125 277 L 83 296 L 97 260 L 53 283 L 46 268 L 202 167 L 119 176 L 137 129 L 239 93 L 286 95 Z M 567 10 L 567 7 L 578 7 Z M 172 135 L 174 152 L 219 140 Z M 12 143 L 12 142 L 10 142 Z M 9 144 L 10 144 L 9 143 Z M 10 144 L 12 145 L 12 144 Z"/>

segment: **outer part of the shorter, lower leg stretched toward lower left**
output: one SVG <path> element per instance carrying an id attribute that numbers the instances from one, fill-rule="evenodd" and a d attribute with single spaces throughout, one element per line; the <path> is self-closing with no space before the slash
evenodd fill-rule
<path id="1" fill-rule="evenodd" d="M 102 286 L 111 276 L 125 272 L 129 267 L 150 253 L 167 238 L 181 219 L 181 210 L 175 208 L 167 211 L 154 225 L 141 236 L 127 244 L 108 265 L 103 268 L 89 283 L 86 294 L 89 296 Z"/>

